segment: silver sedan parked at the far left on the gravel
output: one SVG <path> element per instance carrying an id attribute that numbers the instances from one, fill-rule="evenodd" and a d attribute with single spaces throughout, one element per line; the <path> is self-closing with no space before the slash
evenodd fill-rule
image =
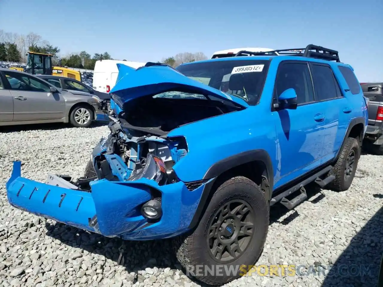
<path id="1" fill-rule="evenodd" d="M 91 94 L 61 90 L 34 75 L 0 68 L 0 126 L 70 123 L 88 127 L 108 121 Z"/>

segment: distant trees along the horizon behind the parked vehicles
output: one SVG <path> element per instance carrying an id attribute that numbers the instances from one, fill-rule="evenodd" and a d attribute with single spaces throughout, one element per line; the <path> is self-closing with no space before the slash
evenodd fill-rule
<path id="1" fill-rule="evenodd" d="M 70 53 L 61 55 L 60 48 L 51 45 L 40 35 L 30 32 L 27 35 L 9 33 L 0 29 L 0 61 L 25 63 L 27 52 L 37 52 L 52 54 L 52 64 L 58 65 L 61 59 L 61 65 L 70 68 L 84 68 L 94 70 L 97 60 L 113 60 L 108 52 L 88 54 L 86 51 L 80 53 Z M 163 58 L 160 63 L 177 67 L 180 64 L 205 60 L 207 57 L 202 52 L 197 53 L 178 53 L 173 57 Z M 149 59 L 148 59 L 149 60 Z"/>

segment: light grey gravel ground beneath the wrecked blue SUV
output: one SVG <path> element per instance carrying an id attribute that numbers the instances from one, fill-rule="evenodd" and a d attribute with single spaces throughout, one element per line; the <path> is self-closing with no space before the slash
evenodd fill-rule
<path id="1" fill-rule="evenodd" d="M 198 286 L 177 264 L 169 240 L 105 238 L 8 204 L 5 182 L 12 160 L 23 162 L 27 178 L 45 181 L 49 171 L 77 178 L 92 147 L 107 134 L 106 126 L 0 129 L 0 286 Z M 258 264 L 294 264 L 300 272 L 255 272 L 227 286 L 376 286 L 383 253 L 382 170 L 383 157 L 362 155 L 348 191 L 310 187 L 309 200 L 295 211 L 273 207 Z"/>

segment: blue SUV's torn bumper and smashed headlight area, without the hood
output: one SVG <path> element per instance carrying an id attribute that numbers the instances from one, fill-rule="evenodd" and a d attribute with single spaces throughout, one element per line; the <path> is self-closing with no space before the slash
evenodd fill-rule
<path id="1" fill-rule="evenodd" d="M 185 139 L 133 137 L 118 123 L 94 148 L 92 178 L 49 174 L 46 183 L 21 177 L 15 161 L 8 201 L 32 214 L 108 237 L 146 240 L 188 230 L 205 186 L 183 183 L 173 165 L 187 154 Z"/>

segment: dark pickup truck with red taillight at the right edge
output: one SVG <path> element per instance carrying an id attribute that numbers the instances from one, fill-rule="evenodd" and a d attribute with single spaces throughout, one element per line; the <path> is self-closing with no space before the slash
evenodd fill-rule
<path id="1" fill-rule="evenodd" d="M 361 83 L 368 103 L 368 126 L 363 148 L 370 153 L 383 154 L 383 83 Z"/>

